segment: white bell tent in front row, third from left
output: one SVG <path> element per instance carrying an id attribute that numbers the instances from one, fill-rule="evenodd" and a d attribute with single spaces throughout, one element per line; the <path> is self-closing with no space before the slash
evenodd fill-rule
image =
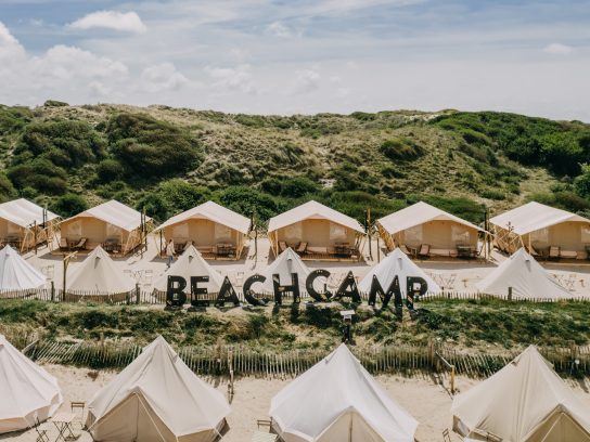
<path id="1" fill-rule="evenodd" d="M 322 361 L 297 377 L 274 398 L 270 416 L 284 434 L 296 440 L 317 441 L 319 435 L 342 427 L 342 418 L 350 413 L 365 424 L 365 435 L 355 440 L 413 441 L 418 421 L 373 379 L 343 343 Z M 349 425 L 345 433 L 348 434 Z M 293 439 L 295 440 L 295 439 Z M 324 439 L 321 439 L 324 440 Z"/>

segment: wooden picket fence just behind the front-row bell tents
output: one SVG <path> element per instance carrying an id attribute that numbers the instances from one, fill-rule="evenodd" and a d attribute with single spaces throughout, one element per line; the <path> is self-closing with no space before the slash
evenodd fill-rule
<path id="1" fill-rule="evenodd" d="M 24 347 L 26 341 L 18 341 Z M 475 378 L 488 377 L 506 365 L 516 353 L 501 354 L 459 352 L 451 347 L 435 346 L 373 346 L 352 347 L 352 352 L 372 374 L 433 373 L 445 370 L 438 353 L 456 373 Z M 37 340 L 27 346 L 26 354 L 44 364 L 85 366 L 94 369 L 120 369 L 133 361 L 141 347 L 128 341 L 65 342 Z M 182 347 L 178 355 L 196 374 L 203 376 L 261 376 L 268 378 L 295 377 L 323 359 L 329 351 L 296 349 L 281 352 L 252 349 L 245 346 Z M 590 376 L 590 350 L 543 348 L 541 353 L 562 376 Z M 576 361 L 578 363 L 576 363 Z"/>

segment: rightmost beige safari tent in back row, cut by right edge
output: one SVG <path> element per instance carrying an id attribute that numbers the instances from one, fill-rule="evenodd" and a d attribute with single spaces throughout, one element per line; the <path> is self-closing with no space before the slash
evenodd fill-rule
<path id="1" fill-rule="evenodd" d="M 489 221 L 496 247 L 508 253 L 525 247 L 535 258 L 590 259 L 588 218 L 533 202 Z"/>

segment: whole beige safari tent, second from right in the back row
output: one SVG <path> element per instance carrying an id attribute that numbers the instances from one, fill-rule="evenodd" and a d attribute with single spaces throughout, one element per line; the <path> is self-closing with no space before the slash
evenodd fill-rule
<path id="1" fill-rule="evenodd" d="M 400 248 L 418 258 L 476 258 L 477 225 L 420 202 L 376 222 L 388 250 Z"/>

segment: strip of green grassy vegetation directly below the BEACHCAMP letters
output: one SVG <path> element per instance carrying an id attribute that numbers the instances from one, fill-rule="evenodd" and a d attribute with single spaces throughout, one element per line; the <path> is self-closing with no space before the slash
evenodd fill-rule
<path id="1" fill-rule="evenodd" d="M 220 312 L 170 312 L 163 307 L 106 307 L 10 301 L 0 304 L 0 333 L 38 330 L 46 338 L 130 339 L 145 344 L 157 334 L 178 346 L 243 343 L 252 348 L 332 348 L 342 336 L 339 303 Z M 517 349 L 529 343 L 569 347 L 590 342 L 590 303 L 520 303 L 500 300 L 437 300 L 419 303 L 411 320 L 390 311 L 375 315 L 357 308 L 358 343 L 426 344 L 433 339 L 457 348 Z M 488 349 L 489 350 L 489 349 Z"/>

